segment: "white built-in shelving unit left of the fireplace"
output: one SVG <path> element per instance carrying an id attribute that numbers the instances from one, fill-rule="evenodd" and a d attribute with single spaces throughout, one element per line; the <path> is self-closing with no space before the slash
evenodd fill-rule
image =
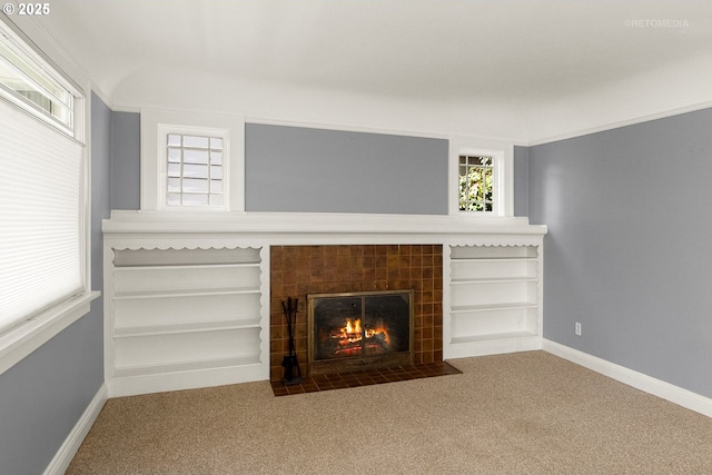
<path id="1" fill-rule="evenodd" d="M 111 254 L 112 396 L 264 378 L 259 248 Z"/>

